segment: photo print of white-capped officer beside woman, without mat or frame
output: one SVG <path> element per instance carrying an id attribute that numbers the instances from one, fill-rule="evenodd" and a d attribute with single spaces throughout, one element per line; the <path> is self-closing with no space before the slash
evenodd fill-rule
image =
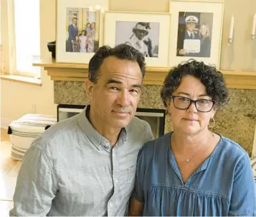
<path id="1" fill-rule="evenodd" d="M 176 56 L 210 57 L 213 13 L 179 12 Z"/>

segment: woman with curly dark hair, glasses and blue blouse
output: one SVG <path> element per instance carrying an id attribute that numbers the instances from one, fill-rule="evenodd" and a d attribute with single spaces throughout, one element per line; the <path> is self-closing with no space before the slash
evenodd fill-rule
<path id="1" fill-rule="evenodd" d="M 229 101 L 222 74 L 190 60 L 171 69 L 161 90 L 174 131 L 138 154 L 131 216 L 254 216 L 255 181 L 240 145 L 214 133 Z"/>

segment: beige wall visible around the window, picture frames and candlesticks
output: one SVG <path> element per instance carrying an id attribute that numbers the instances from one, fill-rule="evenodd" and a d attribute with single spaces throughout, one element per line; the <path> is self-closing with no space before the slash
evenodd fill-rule
<path id="1" fill-rule="evenodd" d="M 1 7 L 6 6 L 6 0 L 1 1 Z M 50 59 L 47 51 L 47 41 L 55 39 L 55 1 L 42 0 L 40 2 L 41 18 L 41 58 L 43 61 Z M 110 0 L 110 10 L 120 11 L 155 11 L 168 12 L 169 0 Z M 247 59 L 250 58 L 250 49 L 247 47 L 250 41 L 252 18 L 256 12 L 255 0 L 225 0 L 224 26 L 222 35 L 221 67 L 227 66 L 227 36 L 229 34 L 229 19 L 234 15 L 234 69 L 245 69 Z M 6 21 L 2 11 L 3 19 Z M 4 25 L 2 25 L 4 31 Z M 4 38 L 2 41 L 4 43 Z M 6 49 L 3 46 L 3 49 Z M 5 57 L 8 58 L 8 54 Z M 256 64 L 255 64 L 256 65 Z M 37 113 L 55 114 L 53 104 L 53 82 L 49 80 L 45 71 L 42 71 L 42 86 L 31 86 L 11 81 L 1 81 L 1 118 L 14 120 L 24 113 L 32 112 L 32 105 L 36 105 Z M 2 121 L 1 121 L 2 122 Z"/>

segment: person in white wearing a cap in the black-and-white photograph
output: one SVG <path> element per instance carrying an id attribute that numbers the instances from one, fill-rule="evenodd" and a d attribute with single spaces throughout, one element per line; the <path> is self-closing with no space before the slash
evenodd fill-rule
<path id="1" fill-rule="evenodd" d="M 153 56 L 151 39 L 143 40 L 148 35 L 148 29 L 151 29 L 149 23 L 137 23 L 133 28 L 133 34 L 129 41 L 125 42 L 125 44 L 133 46 L 146 57 Z"/>

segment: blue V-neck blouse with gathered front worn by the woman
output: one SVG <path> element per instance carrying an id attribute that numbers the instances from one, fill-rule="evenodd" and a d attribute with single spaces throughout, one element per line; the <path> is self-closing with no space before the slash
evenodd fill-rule
<path id="1" fill-rule="evenodd" d="M 184 184 L 171 151 L 171 133 L 138 154 L 133 198 L 143 216 L 255 216 L 255 181 L 247 152 L 221 136 L 213 153 Z"/>

